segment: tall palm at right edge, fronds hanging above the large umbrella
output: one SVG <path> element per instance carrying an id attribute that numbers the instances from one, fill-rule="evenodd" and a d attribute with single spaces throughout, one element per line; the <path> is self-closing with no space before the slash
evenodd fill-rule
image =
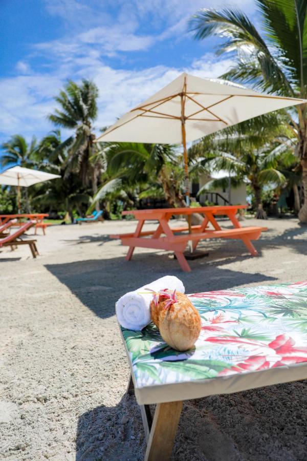
<path id="1" fill-rule="evenodd" d="M 261 35 L 254 21 L 236 8 L 203 9 L 190 20 L 196 39 L 224 37 L 218 53 L 231 52 L 235 65 L 223 75 L 282 96 L 307 97 L 306 0 L 257 0 Z M 307 104 L 287 111 L 289 128 L 297 139 L 302 167 L 304 203 L 298 214 L 307 222 Z"/>

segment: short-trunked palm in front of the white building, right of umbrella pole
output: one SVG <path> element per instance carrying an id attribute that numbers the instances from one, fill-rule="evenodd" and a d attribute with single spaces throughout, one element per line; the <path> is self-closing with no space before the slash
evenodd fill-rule
<path id="1" fill-rule="evenodd" d="M 282 119 L 273 114 L 250 119 L 223 130 L 222 134 L 208 139 L 203 145 L 195 145 L 191 150 L 203 149 L 203 160 L 200 165 L 214 170 L 226 170 L 234 173 L 232 185 L 237 186 L 245 179 L 250 182 L 256 204 L 256 218 L 265 219 L 262 207 L 262 188 L 266 184 L 284 186 L 286 177 L 278 170 L 278 161 L 289 156 L 289 151 L 278 150 L 276 146 L 285 142 L 285 130 Z M 274 148 L 274 149 L 272 149 Z M 293 160 L 293 154 L 290 153 Z M 227 187 L 229 178 L 210 181 L 199 191 L 208 188 Z"/>

